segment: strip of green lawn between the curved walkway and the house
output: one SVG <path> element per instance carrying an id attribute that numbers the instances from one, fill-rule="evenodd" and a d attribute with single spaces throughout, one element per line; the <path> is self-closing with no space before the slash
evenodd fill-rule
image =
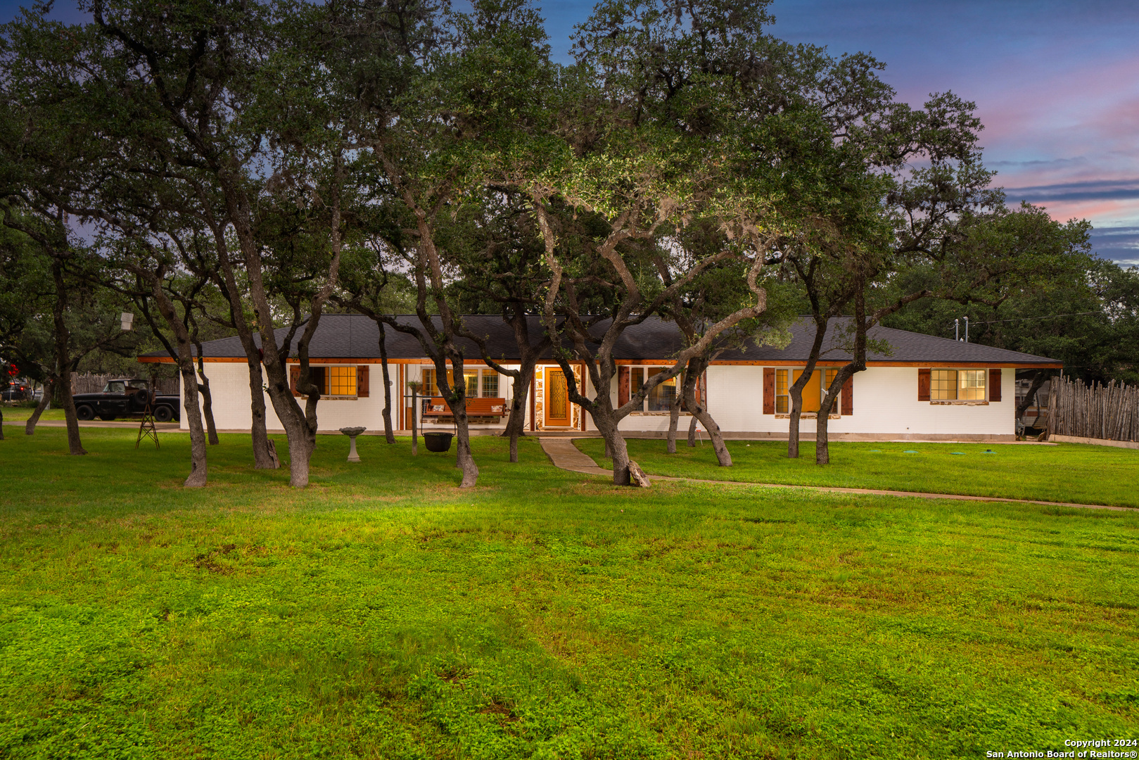
<path id="1" fill-rule="evenodd" d="M 574 443 L 601 467 L 613 466 L 600 439 Z M 681 436 L 677 453 L 666 453 L 663 440 L 628 443 L 629 456 L 654 475 L 1139 507 L 1139 450 L 1133 449 L 1079 443 L 831 442 L 830 464 L 820 467 L 814 464 L 813 441 L 801 444 L 798 459 L 787 458 L 786 441 L 728 441 L 732 466 L 720 467 L 707 441 L 690 449 Z"/>

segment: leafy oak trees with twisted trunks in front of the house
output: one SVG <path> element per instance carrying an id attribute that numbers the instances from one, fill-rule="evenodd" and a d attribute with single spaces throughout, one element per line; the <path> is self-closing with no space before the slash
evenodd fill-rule
<path id="1" fill-rule="evenodd" d="M 698 377 L 748 341 L 778 344 L 802 313 L 817 343 L 855 314 L 838 384 L 865 368 L 874 325 L 945 335 L 966 314 L 973 341 L 1137 378 L 1139 273 L 1096 259 L 1087 222 L 1006 207 L 974 104 L 904 103 L 872 56 L 771 35 L 765 1 L 603 0 L 567 65 L 528 0 L 83 9 L 64 24 L 35 6 L 0 33 L 0 358 L 56 378 L 69 423 L 64 368 L 157 346 L 190 419 L 199 397 L 208 418 L 195 346 L 236 333 L 255 465 L 279 465 L 264 389 L 304 485 L 321 395 L 309 345 L 328 310 L 418 340 L 464 485 L 478 475 L 470 360 L 514 384 L 514 452 L 552 351 L 618 483 L 618 423 L 662 383 L 730 465 Z M 149 335 L 112 329 L 120 309 Z M 487 352 L 470 312 L 513 326 L 519 367 Z M 683 345 L 614 402 L 613 348 L 649 318 Z M 198 422 L 191 439 L 199 485 Z"/>

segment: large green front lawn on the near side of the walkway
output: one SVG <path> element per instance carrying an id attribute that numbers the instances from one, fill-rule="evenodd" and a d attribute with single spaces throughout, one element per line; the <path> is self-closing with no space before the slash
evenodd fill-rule
<path id="1" fill-rule="evenodd" d="M 616 489 L 533 440 L 509 465 L 491 438 L 473 490 L 451 455 L 361 438 L 349 465 L 321 436 L 296 491 L 237 435 L 187 490 L 185 435 L 133 441 L 0 442 L 0 758 L 974 758 L 1139 736 L 1136 513 Z"/>

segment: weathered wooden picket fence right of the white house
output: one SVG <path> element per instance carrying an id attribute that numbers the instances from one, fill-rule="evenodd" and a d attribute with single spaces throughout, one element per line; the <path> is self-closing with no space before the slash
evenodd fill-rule
<path id="1" fill-rule="evenodd" d="M 1048 435 L 1139 441 L 1139 387 L 1084 385 L 1052 378 L 1048 393 Z"/>

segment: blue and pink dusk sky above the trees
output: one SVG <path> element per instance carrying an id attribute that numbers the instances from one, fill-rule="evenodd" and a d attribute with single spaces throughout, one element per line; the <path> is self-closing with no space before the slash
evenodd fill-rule
<path id="1" fill-rule="evenodd" d="M 0 0 L 8 21 L 24 3 Z M 541 2 L 555 55 L 590 0 Z M 77 21 L 71 2 L 57 15 Z M 1013 203 L 1095 224 L 1099 255 L 1139 264 L 1139 1 L 775 0 L 768 31 L 831 54 L 866 51 L 920 105 L 977 104 L 985 163 Z"/>

